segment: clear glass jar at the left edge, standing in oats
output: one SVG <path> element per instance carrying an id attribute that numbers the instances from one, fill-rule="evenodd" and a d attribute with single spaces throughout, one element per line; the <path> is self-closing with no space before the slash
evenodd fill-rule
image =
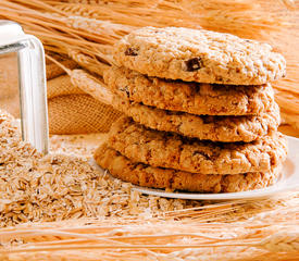
<path id="1" fill-rule="evenodd" d="M 22 137 L 48 153 L 45 52 L 41 42 L 0 20 L 0 109 L 21 119 Z"/>

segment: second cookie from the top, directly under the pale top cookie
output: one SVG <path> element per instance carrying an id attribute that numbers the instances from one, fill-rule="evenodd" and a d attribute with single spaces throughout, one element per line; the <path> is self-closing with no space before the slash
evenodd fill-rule
<path id="1" fill-rule="evenodd" d="M 103 75 L 117 96 L 159 109 L 207 115 L 247 115 L 270 110 L 274 102 L 271 84 L 232 86 L 148 77 L 112 66 Z"/>

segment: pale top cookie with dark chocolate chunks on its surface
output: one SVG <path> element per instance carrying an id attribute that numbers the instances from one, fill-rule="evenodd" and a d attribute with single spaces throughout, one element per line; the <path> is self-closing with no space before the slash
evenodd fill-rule
<path id="1" fill-rule="evenodd" d="M 121 39 L 116 65 L 186 82 L 261 85 L 283 77 L 286 61 L 267 44 L 182 27 L 144 27 Z"/>

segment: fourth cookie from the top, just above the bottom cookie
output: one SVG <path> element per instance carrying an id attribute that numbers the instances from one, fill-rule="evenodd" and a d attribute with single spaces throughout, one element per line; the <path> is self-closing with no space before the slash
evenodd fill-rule
<path id="1" fill-rule="evenodd" d="M 108 145 L 133 162 L 201 174 L 272 172 L 287 154 L 278 132 L 249 144 L 211 142 L 149 129 L 126 116 L 112 125 Z"/>

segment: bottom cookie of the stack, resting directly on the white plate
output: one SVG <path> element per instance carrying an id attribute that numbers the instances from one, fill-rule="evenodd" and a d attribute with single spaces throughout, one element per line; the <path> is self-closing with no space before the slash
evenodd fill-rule
<path id="1" fill-rule="evenodd" d="M 100 166 L 109 170 L 112 176 L 135 185 L 196 192 L 238 192 L 264 188 L 275 183 L 282 169 L 279 163 L 271 172 L 236 175 L 192 174 L 132 162 L 107 144 L 96 150 L 95 160 Z"/>

